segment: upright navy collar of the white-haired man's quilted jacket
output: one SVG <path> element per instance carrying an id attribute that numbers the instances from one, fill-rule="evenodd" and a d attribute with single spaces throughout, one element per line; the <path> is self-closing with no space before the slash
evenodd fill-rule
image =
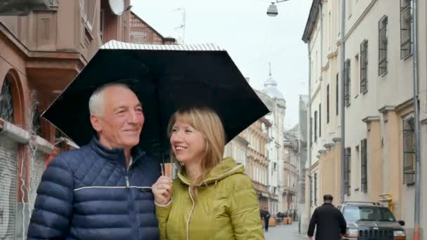
<path id="1" fill-rule="evenodd" d="M 92 138 L 91 142 L 89 143 L 89 146 L 103 159 L 107 159 L 108 161 L 118 161 L 121 164 L 124 164 L 124 166 L 126 166 L 123 148 L 109 149 L 108 147 L 102 145 L 98 138 L 96 138 L 95 136 Z M 144 155 L 145 152 L 143 152 L 141 149 L 139 149 L 138 147 L 133 147 L 131 149 L 131 156 L 133 158 L 132 165 L 136 164 L 136 162 L 141 158 L 141 156 Z"/>

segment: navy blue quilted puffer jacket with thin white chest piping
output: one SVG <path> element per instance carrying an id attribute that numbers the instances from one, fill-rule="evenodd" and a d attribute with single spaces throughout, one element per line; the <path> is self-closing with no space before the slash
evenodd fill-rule
<path id="1" fill-rule="evenodd" d="M 95 138 L 55 157 L 37 189 L 28 239 L 159 239 L 151 186 L 160 166 L 134 150 L 129 170 L 122 149 Z"/>

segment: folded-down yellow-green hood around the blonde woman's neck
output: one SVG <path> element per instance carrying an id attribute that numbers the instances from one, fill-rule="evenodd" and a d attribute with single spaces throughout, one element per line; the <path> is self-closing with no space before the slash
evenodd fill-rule
<path id="1" fill-rule="evenodd" d="M 243 174 L 243 173 L 244 173 L 243 164 L 236 164 L 234 159 L 232 159 L 231 157 L 227 157 L 222 161 L 220 161 L 218 165 L 214 166 L 211 169 L 211 171 L 209 171 L 209 173 L 206 175 L 202 184 L 197 186 L 210 185 L 219 180 L 223 180 L 224 178 L 227 178 L 230 175 Z M 185 185 L 190 185 L 190 178 L 188 178 L 188 175 L 187 173 L 185 173 L 184 168 L 181 169 L 180 173 L 178 173 L 178 178 Z"/>

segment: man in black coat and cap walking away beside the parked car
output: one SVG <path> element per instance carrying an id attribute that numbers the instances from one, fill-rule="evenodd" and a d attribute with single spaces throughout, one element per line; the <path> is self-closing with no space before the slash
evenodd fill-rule
<path id="1" fill-rule="evenodd" d="M 334 197 L 330 194 L 323 196 L 324 204 L 315 209 L 308 226 L 308 239 L 313 239 L 316 227 L 316 240 L 339 240 L 346 234 L 347 223 L 343 215 L 332 205 Z"/>

